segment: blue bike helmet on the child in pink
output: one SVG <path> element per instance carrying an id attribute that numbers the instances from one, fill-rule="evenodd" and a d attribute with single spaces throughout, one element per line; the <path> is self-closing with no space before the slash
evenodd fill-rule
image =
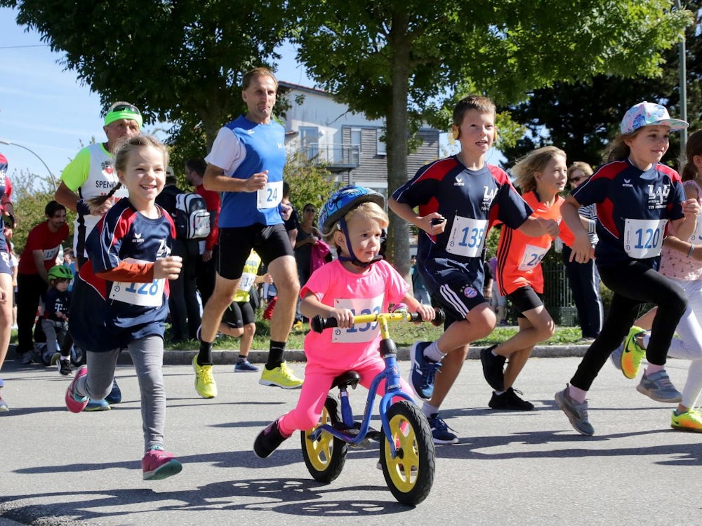
<path id="1" fill-rule="evenodd" d="M 346 229 L 346 222 L 344 216 L 353 210 L 361 203 L 376 203 L 380 208 L 385 208 L 385 198 L 378 194 L 377 191 L 373 191 L 366 187 L 349 186 L 343 187 L 335 191 L 329 199 L 322 206 L 322 210 L 319 211 L 319 228 L 322 229 L 322 236 L 327 238 L 331 235 L 333 227 L 335 224 L 339 224 L 339 229 L 343 232 L 346 238 L 346 248 L 349 251 L 351 257 L 344 257 L 339 255 L 341 261 L 350 261 L 359 267 L 368 267 L 370 264 L 382 259 L 378 257 L 373 259 L 371 262 L 360 262 L 356 255 L 353 253 L 351 248 L 351 243 L 348 239 L 348 231 Z"/>

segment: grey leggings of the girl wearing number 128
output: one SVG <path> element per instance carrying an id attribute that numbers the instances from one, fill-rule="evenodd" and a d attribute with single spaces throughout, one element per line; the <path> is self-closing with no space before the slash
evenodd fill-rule
<path id="1" fill-rule="evenodd" d="M 166 387 L 162 367 L 164 340 L 159 336 L 135 339 L 128 345 L 141 391 L 141 419 L 145 452 L 154 445 L 164 445 L 166 424 Z M 120 349 L 88 351 L 88 375 L 76 382 L 79 396 L 94 400 L 105 398 L 112 389 L 114 369 Z"/>

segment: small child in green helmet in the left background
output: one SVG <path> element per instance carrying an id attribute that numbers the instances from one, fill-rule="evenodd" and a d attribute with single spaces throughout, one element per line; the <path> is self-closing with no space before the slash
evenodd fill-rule
<path id="1" fill-rule="evenodd" d="M 41 329 L 46 335 L 46 349 L 42 353 L 41 359 L 44 365 L 58 365 L 71 370 L 70 349 L 67 361 L 59 363 L 60 343 L 68 334 L 68 309 L 71 305 L 71 292 L 68 285 L 73 279 L 73 273 L 68 267 L 54 265 L 47 272 L 48 289 L 44 300 L 44 317 L 41 318 Z M 69 374 L 69 373 L 64 373 Z"/>

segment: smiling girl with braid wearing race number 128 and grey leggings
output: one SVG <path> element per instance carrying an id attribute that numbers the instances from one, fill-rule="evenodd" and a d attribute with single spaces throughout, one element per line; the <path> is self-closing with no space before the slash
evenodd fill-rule
<path id="1" fill-rule="evenodd" d="M 173 454 L 164 451 L 166 389 L 161 367 L 168 279 L 178 278 L 181 267 L 180 257 L 171 256 L 176 227 L 155 204 L 164 188 L 166 166 L 168 151 L 153 137 L 131 137 L 117 151 L 119 184 L 113 190 L 124 185 L 129 195 L 112 205 L 88 236 L 88 261 L 75 281 L 77 301 L 69 316 L 69 331 L 87 349 L 88 361 L 66 391 L 71 412 L 84 410 L 88 397 L 105 398 L 120 349 L 131 354 L 141 391 L 144 480 L 166 478 L 182 469 Z"/>

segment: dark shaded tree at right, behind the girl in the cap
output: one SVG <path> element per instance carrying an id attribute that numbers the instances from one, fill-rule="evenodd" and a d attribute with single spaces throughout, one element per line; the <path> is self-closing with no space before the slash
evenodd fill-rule
<path id="1" fill-rule="evenodd" d="M 696 21 L 686 31 L 687 119 L 690 129 L 702 128 L 702 1 L 687 2 Z M 503 148 L 511 162 L 546 144 L 567 152 L 569 161 L 602 162 L 602 152 L 616 134 L 626 110 L 636 102 L 659 102 L 680 117 L 679 47 L 663 53 L 661 75 L 653 78 L 620 79 L 598 75 L 592 81 L 555 83 L 534 91 L 522 104 L 509 108 L 515 121 L 529 130 L 513 147 Z M 677 166 L 680 134 L 670 136 L 670 148 L 663 161 Z"/>

